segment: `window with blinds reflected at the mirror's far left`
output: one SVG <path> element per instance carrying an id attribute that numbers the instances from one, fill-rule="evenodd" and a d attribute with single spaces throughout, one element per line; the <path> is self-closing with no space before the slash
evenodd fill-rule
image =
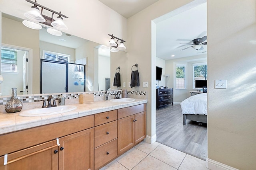
<path id="1" fill-rule="evenodd" d="M 1 71 L 17 72 L 17 50 L 1 48 Z"/>

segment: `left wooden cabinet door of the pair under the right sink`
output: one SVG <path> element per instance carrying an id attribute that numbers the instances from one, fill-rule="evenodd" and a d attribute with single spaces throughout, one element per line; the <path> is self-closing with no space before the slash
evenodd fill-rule
<path id="1" fill-rule="evenodd" d="M 134 145 L 134 115 L 118 119 L 118 155 Z"/>

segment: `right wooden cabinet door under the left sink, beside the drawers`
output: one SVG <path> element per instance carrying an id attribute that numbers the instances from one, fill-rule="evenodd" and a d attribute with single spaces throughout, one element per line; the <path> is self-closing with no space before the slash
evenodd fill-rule
<path id="1" fill-rule="evenodd" d="M 94 169 L 94 128 L 59 140 L 59 170 Z"/>

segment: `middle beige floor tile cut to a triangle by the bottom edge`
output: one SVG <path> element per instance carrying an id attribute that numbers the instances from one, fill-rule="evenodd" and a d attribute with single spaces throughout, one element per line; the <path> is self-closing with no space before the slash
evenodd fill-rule
<path id="1" fill-rule="evenodd" d="M 172 166 L 148 155 L 132 170 L 176 170 Z"/>

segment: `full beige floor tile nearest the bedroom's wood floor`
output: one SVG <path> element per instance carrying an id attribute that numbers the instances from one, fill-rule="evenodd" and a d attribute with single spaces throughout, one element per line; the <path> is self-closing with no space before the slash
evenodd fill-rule
<path id="1" fill-rule="evenodd" d="M 182 160 L 186 156 L 185 153 L 162 144 L 153 150 L 150 155 L 165 162 L 166 164 L 169 164 L 170 166 L 173 166 L 176 169 L 178 169 Z"/>

